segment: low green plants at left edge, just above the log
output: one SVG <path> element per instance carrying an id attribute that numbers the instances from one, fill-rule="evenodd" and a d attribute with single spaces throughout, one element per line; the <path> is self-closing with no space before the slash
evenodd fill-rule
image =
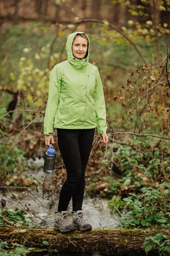
<path id="1" fill-rule="evenodd" d="M 3 211 L 4 209 L 1 208 L 1 211 Z M 30 221 L 31 217 L 27 217 L 26 216 L 26 212 L 24 212 L 21 209 L 15 209 L 15 211 L 13 209 L 7 209 L 3 212 L 0 213 L 2 216 L 4 216 L 8 221 L 10 221 L 11 223 L 14 223 L 17 225 L 27 225 L 28 222 Z M 2 224 L 5 224 L 5 222 L 2 221 Z"/>

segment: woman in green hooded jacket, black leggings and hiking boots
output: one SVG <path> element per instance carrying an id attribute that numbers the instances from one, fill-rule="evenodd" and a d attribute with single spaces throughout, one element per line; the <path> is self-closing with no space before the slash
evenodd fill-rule
<path id="1" fill-rule="evenodd" d="M 105 99 L 96 66 L 88 62 L 89 38 L 83 32 L 68 36 L 68 60 L 54 66 L 50 73 L 48 102 L 44 119 L 45 145 L 54 143 L 57 128 L 59 151 L 67 178 L 59 195 L 54 229 L 69 232 L 91 230 L 83 219 L 85 168 L 91 152 L 95 128 L 107 143 Z M 67 221 L 67 208 L 72 198 L 72 223 Z"/>

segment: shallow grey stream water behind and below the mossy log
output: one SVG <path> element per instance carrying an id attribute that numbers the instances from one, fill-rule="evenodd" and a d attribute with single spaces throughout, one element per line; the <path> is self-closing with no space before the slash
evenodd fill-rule
<path id="1" fill-rule="evenodd" d="M 42 166 L 42 163 L 44 163 L 44 159 L 36 159 L 34 161 L 35 165 Z M 28 164 L 30 164 L 28 162 Z M 49 184 L 52 184 L 52 175 L 47 175 L 43 172 L 43 169 L 41 168 L 39 171 L 33 171 L 31 170 L 29 173 L 25 173 L 27 177 L 34 177 L 41 183 L 43 183 L 44 178 L 46 182 Z M 51 203 L 51 197 L 45 197 L 43 198 L 42 189 L 38 190 L 31 190 L 29 189 L 27 191 L 20 191 L 20 192 L 13 192 L 12 193 L 6 193 L 6 195 L 3 196 L 4 199 L 9 199 L 11 201 L 6 201 L 6 207 L 11 206 L 14 204 L 14 201 L 19 201 L 23 204 L 24 207 L 27 207 L 31 209 L 34 214 L 27 213 L 27 216 L 29 214 L 31 215 L 31 222 L 29 223 L 29 226 L 31 225 L 38 225 L 39 227 L 53 227 L 54 225 L 54 214 L 57 210 L 57 203 L 58 203 L 58 197 L 57 195 L 51 195 L 53 204 Z M 51 206 L 50 206 L 51 205 Z M 82 209 L 87 213 L 85 216 L 85 219 L 88 219 L 88 222 L 92 225 L 93 229 L 120 229 L 121 226 L 119 224 L 119 218 L 120 215 L 118 212 L 111 212 L 110 209 L 107 208 L 108 206 L 108 199 L 94 197 L 91 198 L 87 195 L 85 192 L 84 201 L 83 201 L 83 207 Z M 17 204 L 16 208 L 23 208 L 21 204 Z M 70 202 L 68 206 L 68 210 L 71 211 L 72 209 L 72 202 Z M 29 256 L 100 256 L 99 253 L 93 253 L 93 254 L 79 254 L 79 253 L 29 253 Z"/>

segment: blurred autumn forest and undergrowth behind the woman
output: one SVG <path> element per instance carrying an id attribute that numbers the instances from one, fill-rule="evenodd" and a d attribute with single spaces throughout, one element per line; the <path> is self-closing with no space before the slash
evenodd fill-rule
<path id="1" fill-rule="evenodd" d="M 8 209 L 21 192 L 42 189 L 56 204 L 66 173 L 57 132 L 50 179 L 36 177 L 43 161 L 28 160 L 46 151 L 49 74 L 67 59 L 67 36 L 84 31 L 89 61 L 102 78 L 109 136 L 103 145 L 95 133 L 86 193 L 108 198 L 125 228 L 170 228 L 170 0 L 0 0 L 0 26 L 2 223 L 18 225 L 16 216 L 37 214 L 20 203 L 20 211 Z M 170 252 L 170 241 L 161 248 Z"/>

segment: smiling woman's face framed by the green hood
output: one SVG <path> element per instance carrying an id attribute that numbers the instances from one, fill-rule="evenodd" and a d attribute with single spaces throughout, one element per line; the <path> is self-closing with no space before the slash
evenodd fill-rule
<path id="1" fill-rule="evenodd" d="M 88 49 L 88 42 L 82 36 L 78 36 L 72 44 L 72 52 L 75 58 L 84 58 Z"/>

